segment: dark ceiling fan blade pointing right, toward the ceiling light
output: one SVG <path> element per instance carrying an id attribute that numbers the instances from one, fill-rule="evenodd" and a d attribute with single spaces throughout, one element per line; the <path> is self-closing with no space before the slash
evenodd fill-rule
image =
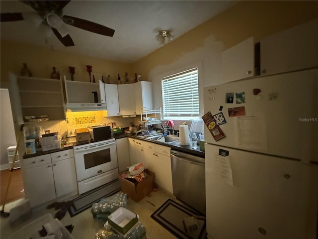
<path id="1" fill-rule="evenodd" d="M 101 34 L 104 36 L 113 36 L 115 30 L 111 29 L 107 26 L 100 25 L 98 23 L 87 21 L 81 18 L 77 18 L 74 16 L 66 16 L 62 17 L 63 21 L 71 26 L 78 27 L 80 29 L 84 29 L 86 31 L 94 32 L 97 34 Z"/>

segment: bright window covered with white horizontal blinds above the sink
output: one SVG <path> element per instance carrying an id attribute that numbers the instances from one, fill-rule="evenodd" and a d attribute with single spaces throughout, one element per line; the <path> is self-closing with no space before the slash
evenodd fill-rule
<path id="1" fill-rule="evenodd" d="M 198 68 L 161 79 L 163 117 L 165 119 L 198 119 Z"/>

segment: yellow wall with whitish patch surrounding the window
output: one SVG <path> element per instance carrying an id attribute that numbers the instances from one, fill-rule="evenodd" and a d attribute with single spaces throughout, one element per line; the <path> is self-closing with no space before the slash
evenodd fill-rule
<path id="1" fill-rule="evenodd" d="M 318 1 L 241 1 L 133 64 L 153 82 L 155 106 L 162 106 L 160 79 L 201 64 L 202 88 L 222 83 L 221 52 L 253 36 L 254 42 L 318 17 Z M 201 94 L 202 95 L 202 94 Z M 200 115 L 203 102 L 200 99 Z"/>

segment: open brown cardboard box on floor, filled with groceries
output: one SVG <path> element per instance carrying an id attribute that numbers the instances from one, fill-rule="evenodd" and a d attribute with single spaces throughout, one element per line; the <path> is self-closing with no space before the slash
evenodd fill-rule
<path id="1" fill-rule="evenodd" d="M 124 172 L 118 175 L 121 191 L 123 193 L 126 193 L 129 198 L 131 198 L 137 203 L 153 191 L 155 173 L 149 170 L 146 170 L 146 172 L 149 175 L 149 177 L 144 181 L 137 183 L 137 185 L 121 177 L 120 175 Z"/>

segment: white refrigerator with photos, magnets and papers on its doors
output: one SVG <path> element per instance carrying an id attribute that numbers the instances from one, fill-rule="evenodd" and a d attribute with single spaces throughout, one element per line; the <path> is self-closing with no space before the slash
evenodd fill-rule
<path id="1" fill-rule="evenodd" d="M 209 239 L 316 239 L 317 93 L 317 68 L 204 88 Z"/>

